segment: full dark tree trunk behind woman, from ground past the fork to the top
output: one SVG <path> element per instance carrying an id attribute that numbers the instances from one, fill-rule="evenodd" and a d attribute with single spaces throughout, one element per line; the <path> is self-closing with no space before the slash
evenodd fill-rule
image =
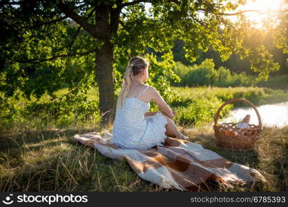
<path id="1" fill-rule="evenodd" d="M 99 3 L 96 7 L 95 15 L 95 29 L 98 31 L 97 39 L 103 41 L 102 48 L 96 54 L 96 77 L 99 88 L 100 124 L 102 127 L 105 127 L 106 124 L 113 124 L 115 115 L 115 91 L 113 83 L 114 48 L 111 43 L 111 33 L 117 31 L 117 22 L 113 18 L 119 18 L 119 11 L 113 14 L 111 14 L 111 11 L 111 6 Z M 110 18 L 111 22 L 109 22 Z M 113 23 L 112 28 L 110 23 Z"/>

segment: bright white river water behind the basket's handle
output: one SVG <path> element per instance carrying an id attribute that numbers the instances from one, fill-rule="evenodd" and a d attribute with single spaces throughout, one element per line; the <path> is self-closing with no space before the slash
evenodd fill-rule
<path id="1" fill-rule="evenodd" d="M 262 119 L 262 126 L 288 126 L 288 101 L 258 106 L 257 110 Z M 231 115 L 228 118 L 222 119 L 222 121 L 218 122 L 240 121 L 245 117 L 245 115 L 251 116 L 249 124 L 258 125 L 258 117 L 256 112 L 249 106 L 238 107 L 231 110 Z"/>

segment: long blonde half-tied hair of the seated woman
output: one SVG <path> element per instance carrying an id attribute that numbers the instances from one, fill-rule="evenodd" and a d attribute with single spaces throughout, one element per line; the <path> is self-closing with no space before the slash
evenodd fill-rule
<path id="1" fill-rule="evenodd" d="M 122 89 L 119 92 L 119 97 L 117 99 L 117 108 L 121 109 L 124 103 L 124 99 L 128 94 L 129 88 L 134 81 L 135 75 L 138 75 L 142 68 L 148 68 L 149 62 L 140 56 L 132 57 L 128 61 L 128 66 L 125 71 L 124 81 L 122 82 Z"/>

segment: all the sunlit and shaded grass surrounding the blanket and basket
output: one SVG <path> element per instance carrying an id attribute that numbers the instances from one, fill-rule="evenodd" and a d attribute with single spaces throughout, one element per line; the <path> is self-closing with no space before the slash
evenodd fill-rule
<path id="1" fill-rule="evenodd" d="M 218 105 L 225 100 L 242 97 L 255 105 L 277 103 L 288 100 L 286 90 L 269 88 L 176 88 L 180 100 L 169 105 L 189 106 L 193 101 L 201 100 L 202 112 L 207 119 L 200 124 L 185 125 L 177 119 L 177 126 L 189 141 L 202 144 L 222 157 L 251 168 L 256 168 L 267 179 L 267 183 L 251 183 L 235 186 L 229 191 L 287 191 L 288 190 L 288 126 L 285 128 L 264 128 L 256 148 L 248 152 L 222 150 L 216 143 L 211 123 Z M 65 91 L 59 91 L 57 95 Z M 90 91 L 90 99 L 96 100 L 96 91 Z M 216 101 L 216 102 L 215 102 Z M 204 103 L 203 102 L 203 103 Z M 202 102 L 199 102 L 200 105 Z M 217 104 L 216 104 L 217 103 Z M 188 111 L 190 109 L 188 108 Z M 202 112 L 200 117 L 203 117 Z M 196 112 L 195 112 L 196 113 Z M 198 112 L 199 114 L 199 112 Z M 191 117 L 184 117 L 191 119 Z M 183 119 L 184 120 L 184 119 Z M 73 140 L 76 133 L 97 131 L 111 132 L 112 126 L 99 128 L 97 124 L 66 128 L 57 128 L 51 124 L 44 128 L 29 128 L 17 124 L 0 131 L 0 190 L 1 191 L 175 191 L 166 190 L 148 181 L 144 181 L 125 161 L 109 159 L 94 148 L 84 146 Z M 217 184 L 209 183 L 209 188 L 199 191 L 226 191 Z"/>

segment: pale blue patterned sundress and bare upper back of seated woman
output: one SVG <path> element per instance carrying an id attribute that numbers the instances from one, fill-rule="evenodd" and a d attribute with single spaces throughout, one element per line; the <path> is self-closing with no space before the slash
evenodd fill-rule
<path id="1" fill-rule="evenodd" d="M 145 95 L 149 86 L 142 86 L 135 96 L 135 88 L 131 88 L 122 108 L 116 109 L 113 142 L 121 148 L 145 149 L 157 144 L 162 145 L 166 139 L 166 117 L 161 112 L 145 117 L 144 113 L 150 109 L 150 103 L 146 100 L 151 97 Z M 142 99 L 139 99 L 140 96 Z"/>

